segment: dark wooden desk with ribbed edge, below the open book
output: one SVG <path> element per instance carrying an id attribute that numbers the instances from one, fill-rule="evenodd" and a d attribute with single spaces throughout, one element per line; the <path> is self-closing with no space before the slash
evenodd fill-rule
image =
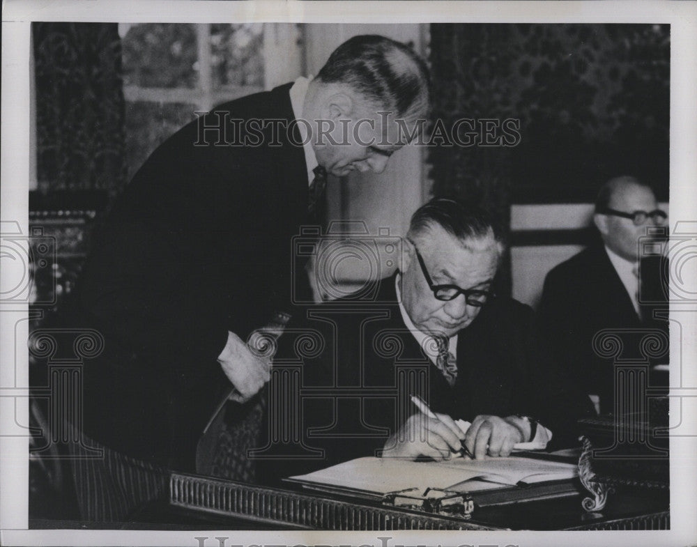
<path id="1" fill-rule="evenodd" d="M 477 507 L 472 518 L 424 514 L 308 491 L 261 488 L 174 474 L 171 509 L 211 527 L 304 530 L 668 530 L 668 496 L 618 493 L 602 513 L 581 507 L 587 495 Z M 475 501 L 476 503 L 476 501 Z M 253 525 L 253 526 L 250 526 Z"/>

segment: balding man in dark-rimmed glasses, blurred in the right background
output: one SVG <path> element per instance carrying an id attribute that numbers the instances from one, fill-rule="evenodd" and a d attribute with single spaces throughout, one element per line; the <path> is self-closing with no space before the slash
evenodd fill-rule
<path id="1" fill-rule="evenodd" d="M 661 278 L 667 277 L 661 268 L 667 261 L 661 256 L 639 261 L 638 256 L 639 238 L 647 226 L 664 224 L 666 213 L 659 210 L 650 187 L 622 176 L 601 188 L 593 220 L 602 240 L 549 272 L 538 318 L 551 360 L 583 386 L 597 411 L 606 414 L 615 410 L 614 367 L 612 359 L 594 350 L 595 335 L 604 329 L 622 331 L 625 352 L 638 352 L 640 337 L 648 329 L 666 332 L 667 340 L 668 322 L 654 315 L 661 307 L 667 313 L 667 305 L 660 305 L 666 298 Z M 622 357 L 642 358 L 638 353 Z M 653 376 L 653 385 L 656 380 Z"/>

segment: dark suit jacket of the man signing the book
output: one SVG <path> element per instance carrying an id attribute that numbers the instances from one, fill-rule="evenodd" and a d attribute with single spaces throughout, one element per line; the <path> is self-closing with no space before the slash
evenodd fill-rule
<path id="1" fill-rule="evenodd" d="M 323 449 L 325 458 L 286 462 L 282 471 L 274 462 L 267 466 L 270 471 L 258 476 L 292 475 L 376 455 L 388 436 L 415 412 L 411 394 L 420 394 L 436 412 L 470 422 L 480 414 L 537 417 L 553 431 L 550 448 L 576 442 L 576 419 L 590 415 L 592 408 L 583 394 L 539 367 L 530 307 L 510 298 L 487 303 L 458 334 L 457 382 L 450 387 L 406 330 L 397 305 L 395 276 L 382 279 L 376 292 L 367 293 L 373 302 L 339 300 L 307 309 L 303 328 L 295 321 L 292 326 L 298 330 L 281 337 L 275 362 L 289 355 L 302 361 L 305 443 Z M 302 358 L 298 354 L 296 340 L 303 330 L 321 334 L 319 355 Z M 398 371 L 406 380 L 399 394 Z M 418 371 L 426 373 L 420 377 Z M 339 389 L 332 392 L 335 387 Z"/>

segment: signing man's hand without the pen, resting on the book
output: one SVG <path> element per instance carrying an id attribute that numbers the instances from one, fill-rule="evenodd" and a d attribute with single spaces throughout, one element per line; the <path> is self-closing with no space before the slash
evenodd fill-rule
<path id="1" fill-rule="evenodd" d="M 530 436 L 530 424 L 517 416 L 477 416 L 465 436 L 465 446 L 476 459 L 489 456 L 509 456 L 516 442 Z"/>

